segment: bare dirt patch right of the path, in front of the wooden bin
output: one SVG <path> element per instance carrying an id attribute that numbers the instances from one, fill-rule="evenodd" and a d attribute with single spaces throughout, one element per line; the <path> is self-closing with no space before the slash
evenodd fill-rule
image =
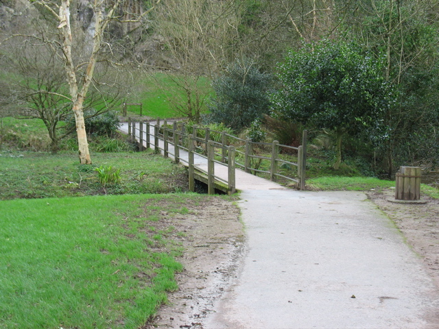
<path id="1" fill-rule="evenodd" d="M 391 202 L 394 200 L 392 188 L 370 191 L 367 195 L 394 221 L 439 287 L 439 200 L 423 195 L 423 204 Z"/>

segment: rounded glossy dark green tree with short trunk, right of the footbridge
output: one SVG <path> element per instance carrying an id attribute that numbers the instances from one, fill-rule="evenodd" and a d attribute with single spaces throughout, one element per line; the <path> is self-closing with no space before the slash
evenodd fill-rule
<path id="1" fill-rule="evenodd" d="M 337 169 L 344 134 L 385 138 L 382 123 L 394 93 L 382 68 L 380 60 L 343 41 L 289 51 L 279 66 L 281 90 L 272 96 L 273 112 L 285 121 L 335 132 Z"/>

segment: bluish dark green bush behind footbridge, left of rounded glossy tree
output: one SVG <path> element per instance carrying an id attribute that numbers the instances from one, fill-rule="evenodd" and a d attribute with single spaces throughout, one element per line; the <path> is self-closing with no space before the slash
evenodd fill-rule
<path id="1" fill-rule="evenodd" d="M 270 100 L 267 91 L 272 77 L 261 73 L 252 60 L 236 60 L 224 75 L 213 81 L 216 98 L 213 99 L 208 121 L 224 123 L 233 130 L 249 127 L 268 114 Z"/>

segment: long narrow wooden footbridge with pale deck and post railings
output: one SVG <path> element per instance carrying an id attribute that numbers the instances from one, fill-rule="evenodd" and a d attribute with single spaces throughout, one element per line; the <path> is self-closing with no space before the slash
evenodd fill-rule
<path id="1" fill-rule="evenodd" d="M 270 181 L 273 182 L 271 188 L 278 188 L 274 183 L 278 180 L 305 188 L 306 131 L 303 145 L 299 147 L 281 145 L 277 141 L 256 143 L 226 132 L 195 125 L 188 129 L 184 122 L 167 123 L 159 119 L 123 123 L 121 131 L 137 143 L 140 151 L 151 148 L 185 164 L 189 168 L 191 191 L 195 189 L 195 180 L 206 183 L 209 194 L 214 194 L 215 189 L 228 194 L 237 189 L 257 189 Z"/>

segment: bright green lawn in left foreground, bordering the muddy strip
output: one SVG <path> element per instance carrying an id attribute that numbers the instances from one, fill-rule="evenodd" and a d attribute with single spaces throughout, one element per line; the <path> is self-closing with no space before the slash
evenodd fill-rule
<path id="1" fill-rule="evenodd" d="M 199 195 L 0 202 L 0 328 L 139 328 L 177 289 L 178 233 Z"/>

